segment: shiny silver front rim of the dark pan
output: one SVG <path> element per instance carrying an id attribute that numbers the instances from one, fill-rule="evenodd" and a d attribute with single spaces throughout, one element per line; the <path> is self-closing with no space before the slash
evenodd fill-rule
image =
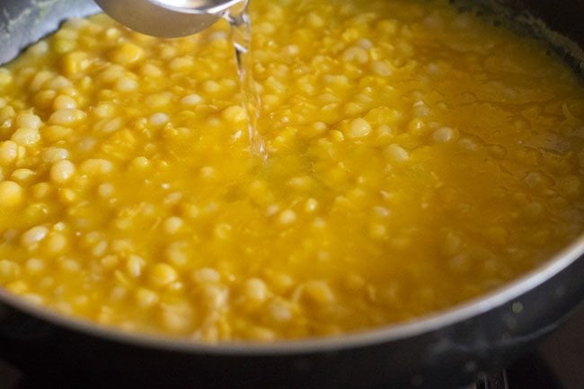
<path id="1" fill-rule="evenodd" d="M 553 278 L 574 278 L 574 282 L 567 282 L 552 288 L 548 281 Z M 475 316 L 488 314 L 494 309 L 504 308 L 501 318 L 505 327 L 509 330 L 501 333 L 501 341 L 509 338 L 512 330 L 517 327 L 518 319 L 529 316 L 530 306 L 541 309 L 544 300 L 529 302 L 524 305 L 522 298 L 534 290 L 541 289 L 547 299 L 561 300 L 566 296 L 575 295 L 576 306 L 584 300 L 584 235 L 570 247 L 555 255 L 550 261 L 539 266 L 535 270 L 526 273 L 523 277 L 484 294 L 462 305 L 437 313 L 427 314 L 409 322 L 392 324 L 375 330 L 357 332 L 342 337 L 319 338 L 308 340 L 277 341 L 270 343 L 224 343 L 208 345 L 199 342 L 176 340 L 155 335 L 142 335 L 131 332 L 120 332 L 114 329 L 95 325 L 93 323 L 56 314 L 50 309 L 32 305 L 18 296 L 8 293 L 0 288 L 0 302 L 14 309 L 30 314 L 42 321 L 68 327 L 73 331 L 90 333 L 96 337 L 109 338 L 111 340 L 128 342 L 141 346 L 163 348 L 169 350 L 190 352 L 200 351 L 208 354 L 237 354 L 237 355 L 287 355 L 299 351 L 322 352 L 337 351 L 347 347 L 362 347 L 377 344 L 383 341 L 393 341 L 418 336 L 427 332 L 435 332 L 456 323 L 464 323 Z M 510 307 L 510 308 L 509 308 Z M 0 306 L 1 308 L 1 306 Z M 4 308 L 5 309 L 5 308 Z M 2 318 L 0 311 L 0 319 Z M 546 327 L 546 326 L 545 326 Z M 539 326 L 531 330 L 539 330 Z M 0 335 L 2 329 L 0 327 Z M 2 351 L 0 350 L 0 354 Z"/>

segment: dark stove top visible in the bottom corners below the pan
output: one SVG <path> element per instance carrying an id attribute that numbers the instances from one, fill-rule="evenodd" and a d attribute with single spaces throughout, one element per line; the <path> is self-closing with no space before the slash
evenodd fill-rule
<path id="1" fill-rule="evenodd" d="M 68 389 L 92 387 L 71 383 Z M 51 385 L 50 376 L 23 376 L 0 360 L 0 389 L 67 388 Z M 534 353 L 468 389 L 584 389 L 584 305 Z"/>

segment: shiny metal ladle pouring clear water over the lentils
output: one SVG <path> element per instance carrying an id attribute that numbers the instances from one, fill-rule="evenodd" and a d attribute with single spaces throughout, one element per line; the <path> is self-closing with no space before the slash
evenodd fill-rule
<path id="1" fill-rule="evenodd" d="M 245 0 L 95 0 L 105 13 L 132 30 L 178 38 L 207 29 Z"/>

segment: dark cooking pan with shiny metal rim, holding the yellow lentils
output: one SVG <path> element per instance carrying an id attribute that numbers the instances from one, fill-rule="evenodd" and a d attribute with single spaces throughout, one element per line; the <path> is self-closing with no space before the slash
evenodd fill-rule
<path id="1" fill-rule="evenodd" d="M 89 1 L 4 3 L 0 31 L 8 34 L 0 32 L 0 62 L 54 31 L 64 18 L 97 10 Z M 549 2 L 533 2 L 544 3 Z M 564 2 L 562 7 L 570 3 L 577 4 Z M 584 41 L 581 35 L 574 37 Z M 115 332 L 27 305 L 0 290 L 0 354 L 32 372 L 67 371 L 68 377 L 83 374 L 107 381 L 111 372 L 123 371 L 128 383 L 135 384 L 456 387 L 505 366 L 582 301 L 583 252 L 584 240 L 579 239 L 506 287 L 410 323 L 268 345 L 207 346 Z"/>

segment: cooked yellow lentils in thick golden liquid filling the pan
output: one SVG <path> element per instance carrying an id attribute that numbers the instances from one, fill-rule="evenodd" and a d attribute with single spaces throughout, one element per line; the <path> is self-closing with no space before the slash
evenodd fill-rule
<path id="1" fill-rule="evenodd" d="M 582 232 L 584 88 L 447 2 L 252 2 L 259 132 L 226 23 L 103 15 L 0 69 L 0 285 L 208 342 L 354 332 L 456 305 Z"/>

